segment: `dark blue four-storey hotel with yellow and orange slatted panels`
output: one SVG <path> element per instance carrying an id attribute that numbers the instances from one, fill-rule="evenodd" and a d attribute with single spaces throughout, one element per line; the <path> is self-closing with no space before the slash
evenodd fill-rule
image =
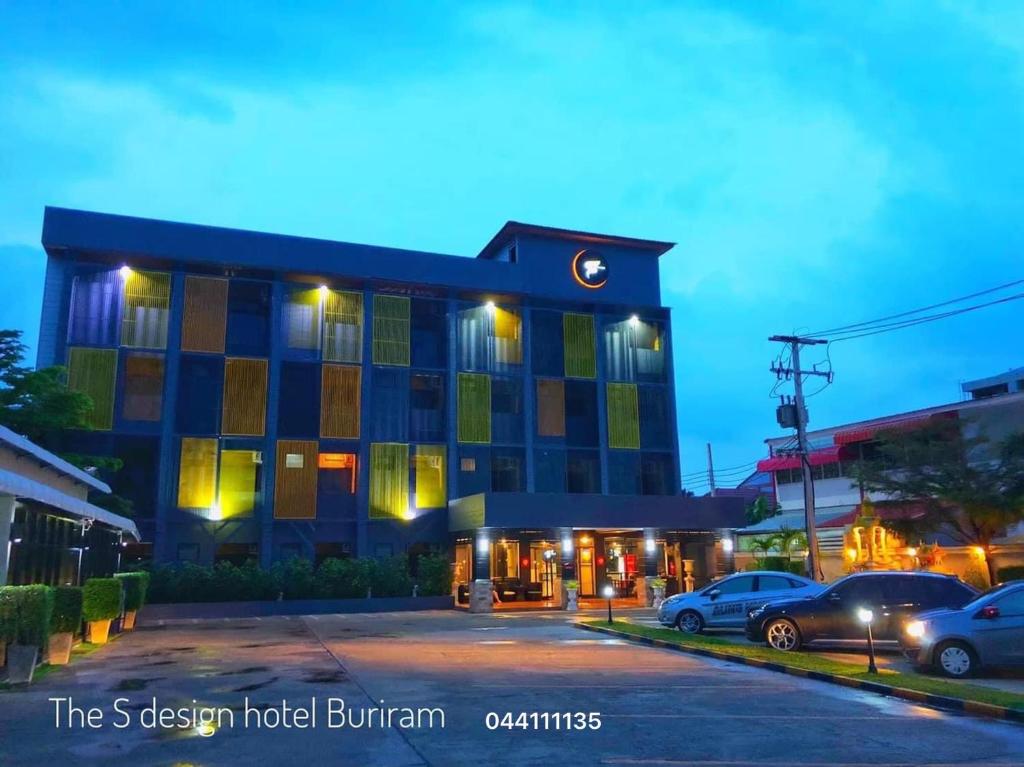
<path id="1" fill-rule="evenodd" d="M 534 583 L 558 546 L 587 594 L 737 523 L 679 495 L 670 243 L 509 222 L 461 258 L 47 208 L 43 245 L 39 365 L 96 403 L 66 446 L 124 459 L 159 561 L 456 544 L 457 578 Z"/>

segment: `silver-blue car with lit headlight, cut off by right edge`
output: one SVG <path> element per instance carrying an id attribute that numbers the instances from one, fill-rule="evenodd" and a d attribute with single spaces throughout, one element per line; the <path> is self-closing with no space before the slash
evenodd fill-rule
<path id="1" fill-rule="evenodd" d="M 903 632 L 903 652 L 947 677 L 983 666 L 1024 666 L 1024 581 L 989 589 L 958 609 L 922 612 Z"/>

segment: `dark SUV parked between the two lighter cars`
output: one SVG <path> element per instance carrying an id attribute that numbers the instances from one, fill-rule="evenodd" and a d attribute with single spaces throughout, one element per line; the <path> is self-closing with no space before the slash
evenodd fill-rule
<path id="1" fill-rule="evenodd" d="M 746 616 L 746 638 L 778 650 L 812 642 L 866 641 L 858 617 L 872 612 L 871 632 L 896 642 L 911 615 L 936 607 L 962 607 L 978 595 L 953 576 L 938 572 L 857 572 L 840 579 L 817 596 L 769 602 Z"/>

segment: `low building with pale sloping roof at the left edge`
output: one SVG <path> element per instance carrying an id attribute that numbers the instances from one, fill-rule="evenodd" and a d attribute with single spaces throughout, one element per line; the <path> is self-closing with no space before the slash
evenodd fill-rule
<path id="1" fill-rule="evenodd" d="M 79 585 L 120 568 L 134 522 L 89 503 L 111 488 L 0 426 L 0 586 Z"/>

